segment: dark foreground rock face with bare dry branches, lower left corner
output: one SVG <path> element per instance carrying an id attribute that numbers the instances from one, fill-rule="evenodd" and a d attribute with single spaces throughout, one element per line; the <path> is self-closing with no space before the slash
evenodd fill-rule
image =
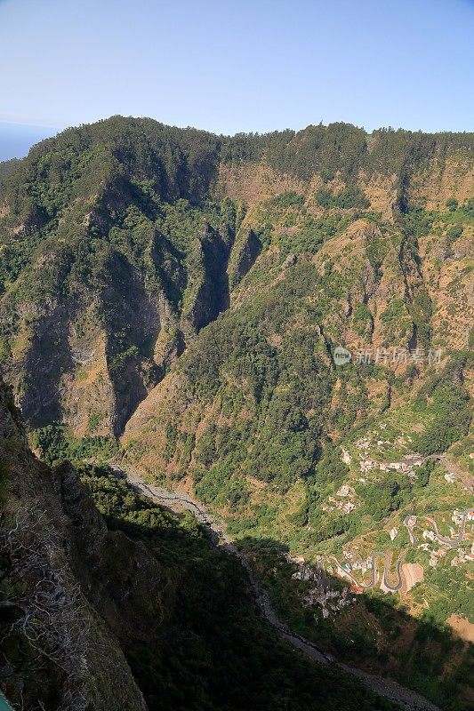
<path id="1" fill-rule="evenodd" d="M 93 574 L 92 561 L 114 545 L 115 535 L 107 531 L 74 470 L 52 473 L 28 451 L 19 411 L 3 383 L 0 451 L 0 674 L 7 697 L 31 708 L 41 702 L 48 709 L 144 711 L 124 654 L 92 606 L 85 584 Z M 96 585 L 91 579 L 91 587 Z"/>

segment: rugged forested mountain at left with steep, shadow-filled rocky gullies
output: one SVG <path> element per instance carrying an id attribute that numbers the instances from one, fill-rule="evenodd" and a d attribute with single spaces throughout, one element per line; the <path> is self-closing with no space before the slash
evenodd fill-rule
<path id="1" fill-rule="evenodd" d="M 194 207 L 201 171 L 175 155 L 166 172 L 141 135 L 131 150 L 145 141 L 149 156 L 138 167 L 126 125 L 109 142 L 79 132 L 82 143 L 44 144 L 4 184 L 2 361 L 30 427 L 120 434 L 229 301 L 235 215 Z"/>

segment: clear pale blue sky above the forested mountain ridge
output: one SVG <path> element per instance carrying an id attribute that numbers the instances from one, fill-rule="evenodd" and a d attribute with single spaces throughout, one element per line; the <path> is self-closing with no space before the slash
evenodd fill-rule
<path id="1" fill-rule="evenodd" d="M 0 157 L 112 114 L 472 131 L 473 37 L 474 0 L 0 0 Z"/>

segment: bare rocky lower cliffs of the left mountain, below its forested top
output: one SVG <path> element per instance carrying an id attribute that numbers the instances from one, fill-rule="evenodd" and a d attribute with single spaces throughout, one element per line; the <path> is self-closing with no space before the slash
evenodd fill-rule
<path id="1" fill-rule="evenodd" d="M 25 301 L 5 294 L 4 330 L 15 338 L 9 340 L 4 377 L 15 388 L 28 426 L 63 421 L 76 435 L 120 435 L 185 340 L 228 307 L 231 239 L 210 229 L 198 240 L 196 278 L 181 313 L 176 303 L 189 276 L 182 265 L 176 270 L 166 253 L 157 253 L 156 238 L 151 263 L 159 287 L 117 252 L 107 256 L 97 281 L 88 284 L 80 274 L 79 252 L 67 275 L 73 282 L 70 292 L 64 293 L 55 276 L 58 293 L 51 299 Z M 165 260 L 167 276 L 158 260 Z M 52 268 L 50 261 L 42 264 L 46 271 Z M 47 276 L 25 278 L 41 284 Z"/>

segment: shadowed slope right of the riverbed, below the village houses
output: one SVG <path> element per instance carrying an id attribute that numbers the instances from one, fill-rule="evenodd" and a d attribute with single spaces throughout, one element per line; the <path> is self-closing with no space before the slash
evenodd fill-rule
<path id="1" fill-rule="evenodd" d="M 429 611 L 421 619 L 414 618 L 398 595 L 374 590 L 350 593 L 355 602 L 323 619 L 320 604 L 303 603 L 317 581 L 292 579 L 303 566 L 287 557 L 287 546 L 252 537 L 239 540 L 238 545 L 268 592 L 277 618 L 294 632 L 350 665 L 390 675 L 446 711 L 463 711 L 473 704 L 469 680 L 474 645 L 454 636 Z M 326 571 L 323 578 L 333 589 L 350 586 Z"/>

